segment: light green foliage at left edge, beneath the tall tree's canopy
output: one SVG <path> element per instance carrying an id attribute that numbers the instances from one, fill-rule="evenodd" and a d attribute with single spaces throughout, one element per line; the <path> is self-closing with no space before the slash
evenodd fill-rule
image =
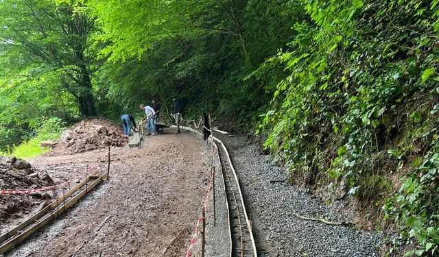
<path id="1" fill-rule="evenodd" d="M 56 72 L 39 67 L 0 79 L 0 151 L 21 144 L 51 117 L 73 121 L 79 116 L 73 97 L 60 84 Z"/>

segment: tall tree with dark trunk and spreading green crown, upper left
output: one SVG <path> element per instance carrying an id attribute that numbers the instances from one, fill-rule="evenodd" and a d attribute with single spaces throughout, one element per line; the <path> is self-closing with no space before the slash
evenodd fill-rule
<path id="1" fill-rule="evenodd" d="M 62 86 L 75 97 L 81 114 L 95 115 L 91 75 L 104 59 L 93 40 L 95 20 L 82 12 L 82 4 L 3 1 L 0 16 L 4 54 L 15 55 L 8 60 L 21 60 L 21 68 L 40 64 L 62 71 Z M 14 73 L 8 75 L 13 77 Z"/>

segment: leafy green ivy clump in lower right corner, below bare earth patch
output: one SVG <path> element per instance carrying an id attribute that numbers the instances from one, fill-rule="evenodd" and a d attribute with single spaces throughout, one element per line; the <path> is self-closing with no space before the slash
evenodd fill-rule
<path id="1" fill-rule="evenodd" d="M 399 241 L 406 238 L 418 241 L 420 248 L 408 255 L 435 256 L 439 250 L 439 144 L 437 140 L 431 144 L 424 162 L 405 178 L 399 194 L 383 206 L 388 218 L 401 222 Z"/>

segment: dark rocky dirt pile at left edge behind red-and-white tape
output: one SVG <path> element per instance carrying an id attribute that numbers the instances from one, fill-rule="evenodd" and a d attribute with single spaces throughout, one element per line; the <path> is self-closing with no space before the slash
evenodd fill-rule
<path id="1" fill-rule="evenodd" d="M 54 181 L 45 171 L 32 169 L 29 162 L 0 156 L 0 190 L 27 190 L 49 186 Z M 54 197 L 51 193 L 32 195 L 9 195 L 0 193 L 0 224 L 11 217 L 21 217 L 40 204 L 43 198 Z"/>

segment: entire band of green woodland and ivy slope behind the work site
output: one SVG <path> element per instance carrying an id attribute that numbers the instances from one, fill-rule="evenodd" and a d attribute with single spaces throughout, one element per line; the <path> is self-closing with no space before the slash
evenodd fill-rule
<path id="1" fill-rule="evenodd" d="M 292 182 L 375 206 L 388 254 L 435 256 L 438 3 L 0 1 L 0 151 L 178 97 L 185 119 L 263 140 Z"/>

